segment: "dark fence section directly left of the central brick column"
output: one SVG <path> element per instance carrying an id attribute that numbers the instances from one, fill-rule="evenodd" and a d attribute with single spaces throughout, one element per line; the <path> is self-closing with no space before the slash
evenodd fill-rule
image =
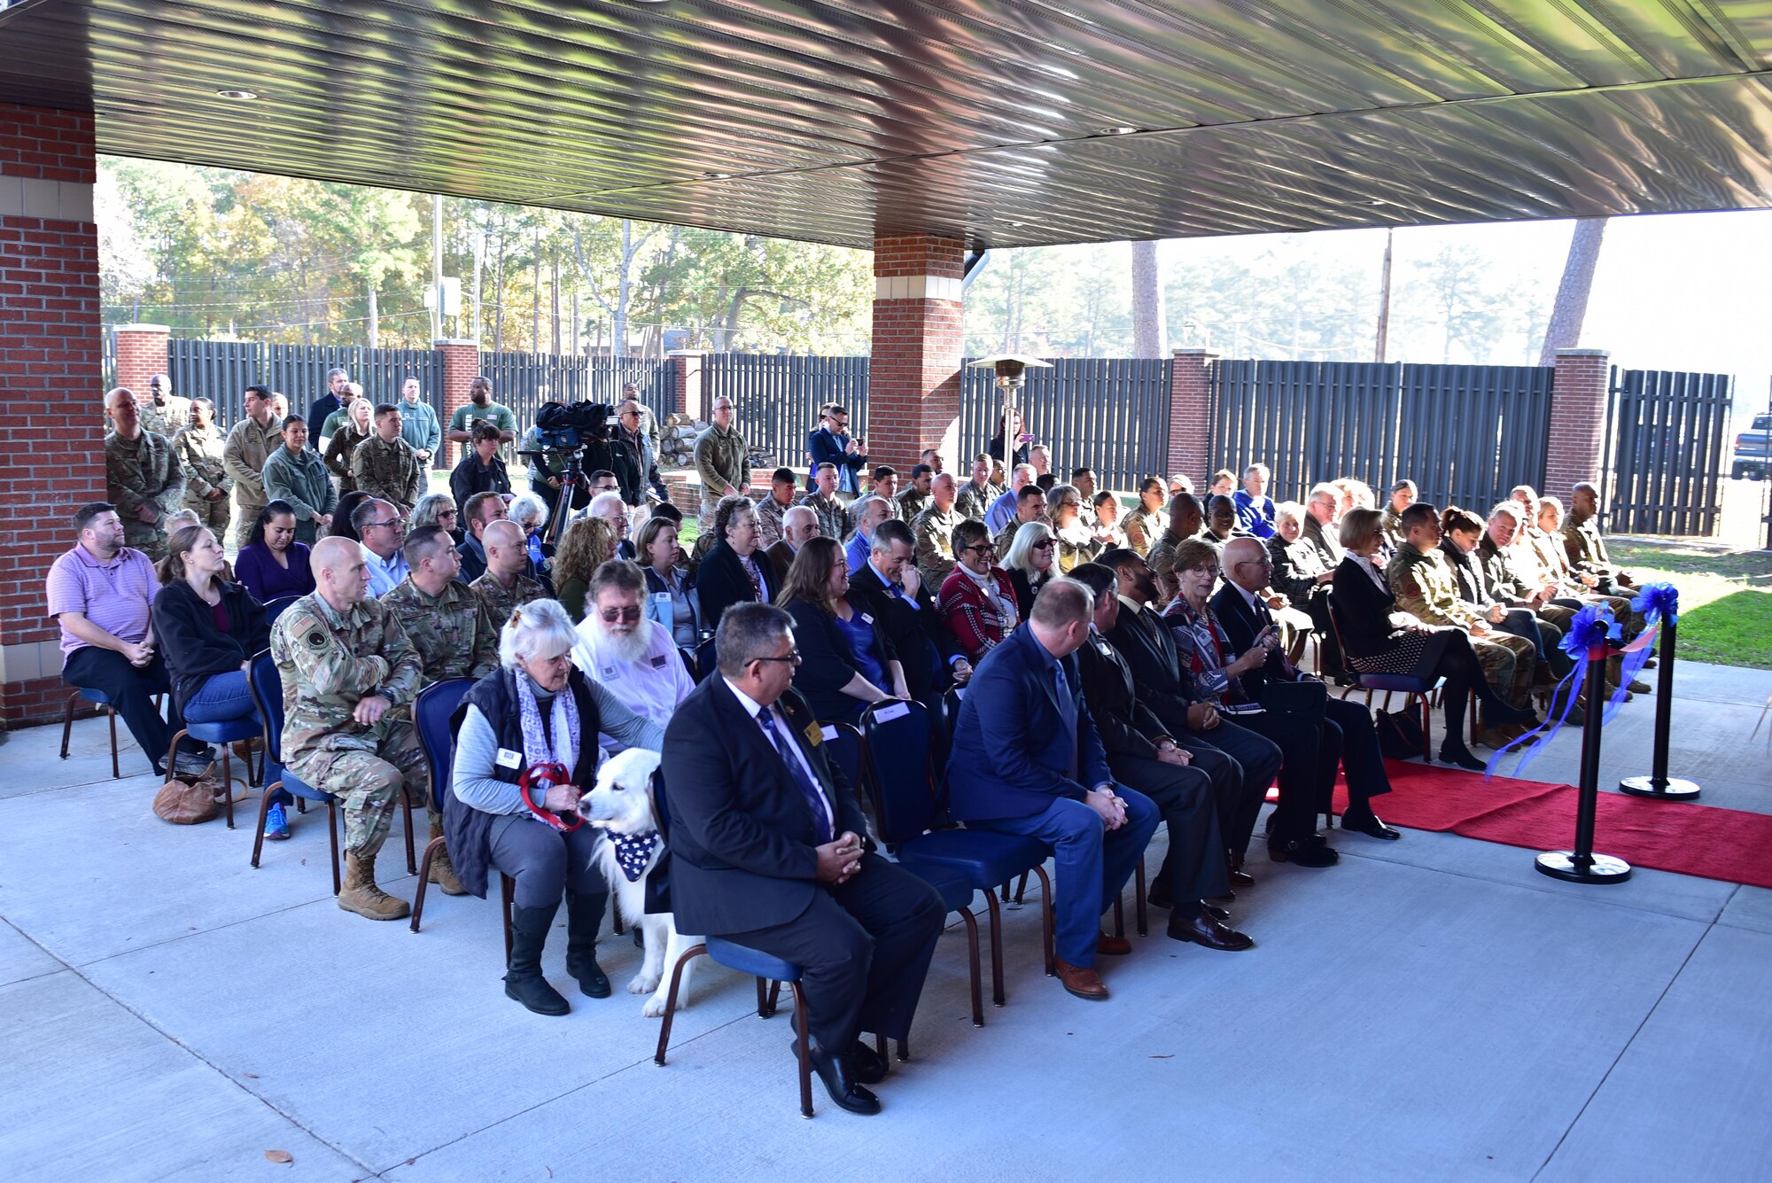
<path id="1" fill-rule="evenodd" d="M 716 352 L 702 360 L 702 406 L 721 395 L 739 409 L 739 430 L 776 466 L 806 468 L 806 436 L 828 402 L 849 411 L 849 430 L 868 434 L 868 360 Z"/>

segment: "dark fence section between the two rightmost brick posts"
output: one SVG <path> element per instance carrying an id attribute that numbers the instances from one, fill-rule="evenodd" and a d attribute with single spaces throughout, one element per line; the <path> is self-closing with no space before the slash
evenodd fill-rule
<path id="1" fill-rule="evenodd" d="M 1209 455 L 1239 476 L 1267 464 L 1276 499 L 1302 499 L 1338 476 L 1382 499 L 1407 476 L 1425 501 L 1481 512 L 1513 485 L 1543 483 L 1552 375 L 1550 367 L 1219 361 Z"/>

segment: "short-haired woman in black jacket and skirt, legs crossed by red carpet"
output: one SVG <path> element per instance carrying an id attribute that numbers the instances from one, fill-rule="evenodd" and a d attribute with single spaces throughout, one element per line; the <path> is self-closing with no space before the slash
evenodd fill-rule
<path id="1" fill-rule="evenodd" d="M 1359 673 L 1400 673 L 1432 684 L 1446 678 L 1446 738 L 1439 756 L 1481 772 L 1483 762 L 1464 742 L 1464 715 L 1471 694 L 1483 703 L 1490 726 L 1535 723 L 1529 710 L 1510 707 L 1488 687 L 1483 666 L 1464 629 L 1428 625 L 1396 609 L 1391 586 L 1372 560 L 1384 545 L 1384 514 L 1352 508 L 1341 519 L 1347 558 L 1334 570 L 1329 600 L 1348 664 Z"/>

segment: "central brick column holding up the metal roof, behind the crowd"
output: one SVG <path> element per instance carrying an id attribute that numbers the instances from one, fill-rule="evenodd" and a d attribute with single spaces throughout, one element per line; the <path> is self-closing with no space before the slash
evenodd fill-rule
<path id="1" fill-rule="evenodd" d="M 964 267 L 966 244 L 959 239 L 904 234 L 874 241 L 874 356 L 865 425 L 870 464 L 891 464 L 904 473 L 923 448 L 960 455 Z"/>

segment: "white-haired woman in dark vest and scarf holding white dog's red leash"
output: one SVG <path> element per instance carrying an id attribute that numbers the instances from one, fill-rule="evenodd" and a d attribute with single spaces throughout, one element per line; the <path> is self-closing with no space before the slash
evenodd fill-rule
<path id="1" fill-rule="evenodd" d="M 597 831 L 572 809 L 597 776 L 597 731 L 624 747 L 664 746 L 664 728 L 636 715 L 572 666 L 578 630 L 558 600 L 530 600 L 498 638 L 500 668 L 462 701 L 452 792 L 443 799 L 450 861 L 486 898 L 493 870 L 516 880 L 505 997 L 537 1015 L 571 1008 L 542 976 L 542 944 L 565 894 L 565 970 L 592 999 L 610 997 L 597 928 L 610 900 L 592 864 Z"/>

